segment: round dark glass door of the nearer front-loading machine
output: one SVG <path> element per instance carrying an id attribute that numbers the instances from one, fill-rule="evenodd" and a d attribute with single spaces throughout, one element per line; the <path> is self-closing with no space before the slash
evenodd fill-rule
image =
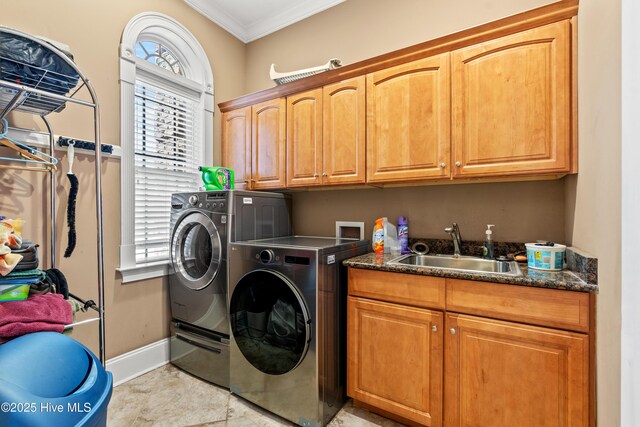
<path id="1" fill-rule="evenodd" d="M 231 295 L 229 314 L 235 343 L 259 371 L 286 374 L 307 354 L 309 310 L 300 292 L 282 274 L 255 270 L 244 275 Z"/>

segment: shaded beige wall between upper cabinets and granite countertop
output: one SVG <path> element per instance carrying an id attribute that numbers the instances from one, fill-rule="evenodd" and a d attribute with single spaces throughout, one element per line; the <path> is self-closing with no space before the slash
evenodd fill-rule
<path id="1" fill-rule="evenodd" d="M 435 185 L 366 190 L 294 193 L 294 231 L 327 236 L 336 221 L 364 221 L 371 238 L 376 218 L 397 225 L 409 218 L 412 237 L 448 238 L 444 228 L 457 222 L 464 240 L 483 240 L 487 224 L 495 224 L 498 241 L 536 239 L 564 241 L 562 181 L 500 184 Z"/>

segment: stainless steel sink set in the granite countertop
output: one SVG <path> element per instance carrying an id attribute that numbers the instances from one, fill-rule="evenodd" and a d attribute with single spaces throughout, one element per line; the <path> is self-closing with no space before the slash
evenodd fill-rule
<path id="1" fill-rule="evenodd" d="M 412 265 L 416 267 L 442 268 L 445 270 L 470 271 L 481 273 L 521 276 L 522 272 L 515 261 L 496 261 L 470 256 L 447 255 L 403 255 L 389 264 Z"/>

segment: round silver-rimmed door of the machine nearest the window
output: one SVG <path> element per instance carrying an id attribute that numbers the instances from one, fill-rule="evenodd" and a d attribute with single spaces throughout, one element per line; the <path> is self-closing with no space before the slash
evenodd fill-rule
<path id="1" fill-rule="evenodd" d="M 193 290 L 207 287 L 221 260 L 220 234 L 211 218 L 201 212 L 182 217 L 171 238 L 171 262 L 180 283 Z"/>

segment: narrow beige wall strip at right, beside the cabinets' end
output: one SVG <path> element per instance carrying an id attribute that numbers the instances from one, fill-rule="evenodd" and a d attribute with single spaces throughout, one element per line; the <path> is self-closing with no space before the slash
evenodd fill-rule
<path id="1" fill-rule="evenodd" d="M 567 239 L 598 258 L 598 424 L 620 425 L 620 0 L 579 10 L 580 173 L 567 180 Z"/>

